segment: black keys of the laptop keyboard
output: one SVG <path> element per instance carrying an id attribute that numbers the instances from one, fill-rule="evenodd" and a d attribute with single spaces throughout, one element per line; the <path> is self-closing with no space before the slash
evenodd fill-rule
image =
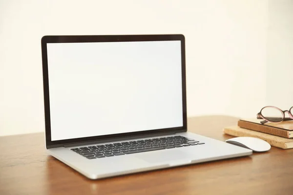
<path id="1" fill-rule="evenodd" d="M 204 143 L 183 136 L 174 136 L 73 148 L 71 150 L 88 159 L 95 159 L 155 150 L 195 146 L 200 144 Z"/>

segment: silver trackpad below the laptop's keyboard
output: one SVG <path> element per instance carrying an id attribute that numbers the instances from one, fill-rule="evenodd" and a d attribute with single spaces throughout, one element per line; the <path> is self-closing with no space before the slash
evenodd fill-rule
<path id="1" fill-rule="evenodd" d="M 146 162 L 150 163 L 170 163 L 171 161 L 191 161 L 190 155 L 187 153 L 184 153 L 183 151 L 172 151 L 172 150 L 164 150 L 160 152 L 146 152 L 138 154 L 136 157 L 139 157 L 142 160 L 145 160 Z"/>

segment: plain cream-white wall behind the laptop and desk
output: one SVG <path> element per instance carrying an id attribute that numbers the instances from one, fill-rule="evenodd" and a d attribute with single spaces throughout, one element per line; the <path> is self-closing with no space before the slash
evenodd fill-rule
<path id="1" fill-rule="evenodd" d="M 182 33 L 188 116 L 293 105 L 292 0 L 0 0 L 0 136 L 44 130 L 43 35 Z"/>

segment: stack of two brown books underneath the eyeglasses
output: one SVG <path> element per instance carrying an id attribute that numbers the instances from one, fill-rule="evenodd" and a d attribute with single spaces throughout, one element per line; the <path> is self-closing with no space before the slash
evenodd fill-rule
<path id="1" fill-rule="evenodd" d="M 240 119 L 237 126 L 225 127 L 223 131 L 234 137 L 257 137 L 278 148 L 293 148 L 293 120 L 265 124 L 261 121 L 263 119 Z"/>

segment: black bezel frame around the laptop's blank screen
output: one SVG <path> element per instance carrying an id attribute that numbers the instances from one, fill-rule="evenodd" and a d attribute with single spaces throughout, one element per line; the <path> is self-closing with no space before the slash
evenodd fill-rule
<path id="1" fill-rule="evenodd" d="M 49 100 L 49 80 L 48 80 L 48 59 L 47 43 L 73 43 L 73 42 L 123 42 L 123 41 L 163 41 L 180 40 L 181 41 L 181 69 L 182 69 L 182 102 L 183 102 L 183 126 L 153 129 L 139 132 L 129 132 L 113 135 L 80 137 L 63 140 L 51 140 L 50 126 L 50 100 Z M 43 36 L 42 46 L 42 74 L 43 74 L 43 98 L 44 98 L 44 117 L 45 117 L 45 142 L 46 148 L 60 147 L 63 144 L 74 144 L 80 142 L 123 138 L 132 136 L 147 136 L 157 133 L 177 133 L 187 131 L 187 102 L 186 102 L 186 65 L 185 65 L 185 37 L 181 34 L 173 35 L 70 35 L 70 36 Z"/>

